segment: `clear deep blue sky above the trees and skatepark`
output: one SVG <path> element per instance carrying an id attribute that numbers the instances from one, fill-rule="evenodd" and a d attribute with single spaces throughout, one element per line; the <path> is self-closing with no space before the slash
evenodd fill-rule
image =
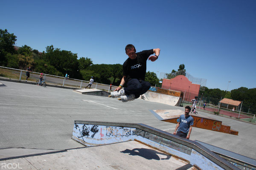
<path id="1" fill-rule="evenodd" d="M 147 71 L 184 64 L 208 88 L 256 88 L 256 0 L 2 0 L 0 16 L 17 46 L 53 45 L 93 64 L 122 64 L 129 43 L 160 48 Z"/>

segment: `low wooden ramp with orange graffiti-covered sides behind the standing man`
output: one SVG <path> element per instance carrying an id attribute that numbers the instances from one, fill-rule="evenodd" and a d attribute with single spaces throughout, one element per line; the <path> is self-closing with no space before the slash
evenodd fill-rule
<path id="1" fill-rule="evenodd" d="M 151 110 L 158 119 L 164 122 L 178 123 L 180 115 L 184 114 L 181 110 Z M 223 124 L 221 121 L 202 116 L 200 114 L 190 114 L 194 118 L 193 127 L 198 127 L 207 130 L 213 130 L 222 133 L 238 135 L 238 131 L 230 128 L 229 125 Z"/>

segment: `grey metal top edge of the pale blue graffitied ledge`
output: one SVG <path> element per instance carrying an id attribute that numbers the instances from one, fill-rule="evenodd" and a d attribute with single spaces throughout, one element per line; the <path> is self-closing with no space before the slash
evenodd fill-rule
<path id="1" fill-rule="evenodd" d="M 116 127 L 133 127 L 138 128 L 140 130 L 144 130 L 146 132 L 152 133 L 154 135 L 163 137 L 165 139 L 177 142 L 179 144 L 183 144 L 187 147 L 191 147 L 201 155 L 205 156 L 207 159 L 213 161 L 218 166 L 222 167 L 225 170 L 240 170 L 238 167 L 234 166 L 226 159 L 221 158 L 216 153 L 212 152 L 211 150 L 207 149 L 203 145 L 199 144 L 198 142 L 191 141 L 189 139 L 184 139 L 178 136 L 175 136 L 171 133 L 165 132 L 163 130 L 159 130 L 157 128 L 144 125 L 141 123 L 119 123 L 119 122 L 95 122 L 95 121 L 82 121 L 82 120 L 75 120 L 74 123 L 76 124 L 85 124 L 85 125 L 103 125 L 103 126 L 116 126 Z"/>

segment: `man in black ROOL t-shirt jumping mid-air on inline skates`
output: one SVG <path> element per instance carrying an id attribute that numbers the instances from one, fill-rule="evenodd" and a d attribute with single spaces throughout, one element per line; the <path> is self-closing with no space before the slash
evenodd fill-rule
<path id="1" fill-rule="evenodd" d="M 160 48 L 144 50 L 136 53 L 136 48 L 132 44 L 125 47 L 128 59 L 123 63 L 123 77 L 118 88 L 109 97 L 120 97 L 122 102 L 132 101 L 140 97 L 150 88 L 150 83 L 145 82 L 147 60 L 152 62 L 158 59 Z M 155 54 L 155 55 L 152 55 Z M 151 55 L 151 56 L 150 56 Z M 122 88 L 126 84 L 125 88 Z"/>

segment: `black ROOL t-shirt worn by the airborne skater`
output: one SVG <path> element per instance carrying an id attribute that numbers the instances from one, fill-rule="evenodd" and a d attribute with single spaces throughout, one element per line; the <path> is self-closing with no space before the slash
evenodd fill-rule
<path id="1" fill-rule="evenodd" d="M 130 79 L 145 80 L 146 63 L 151 54 L 154 54 L 153 49 L 136 53 L 136 59 L 126 59 L 123 64 L 123 75 L 126 76 L 125 82 L 128 82 Z"/>

